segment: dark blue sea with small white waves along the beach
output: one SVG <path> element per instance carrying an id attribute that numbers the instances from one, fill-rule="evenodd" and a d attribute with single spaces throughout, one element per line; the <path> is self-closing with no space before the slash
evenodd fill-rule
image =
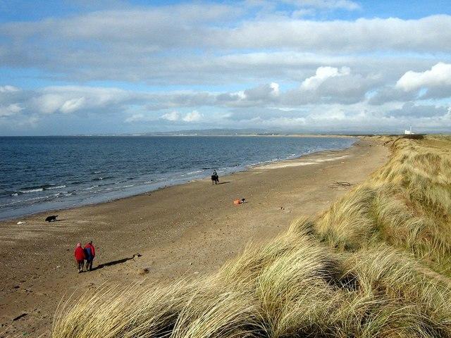
<path id="1" fill-rule="evenodd" d="M 330 137 L 0 137 L 0 219 L 345 149 Z"/>

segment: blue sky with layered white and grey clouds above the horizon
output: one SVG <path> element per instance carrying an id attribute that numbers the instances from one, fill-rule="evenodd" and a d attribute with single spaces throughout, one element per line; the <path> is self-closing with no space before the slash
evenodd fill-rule
<path id="1" fill-rule="evenodd" d="M 451 132 L 451 1 L 0 0 L 0 135 Z"/>

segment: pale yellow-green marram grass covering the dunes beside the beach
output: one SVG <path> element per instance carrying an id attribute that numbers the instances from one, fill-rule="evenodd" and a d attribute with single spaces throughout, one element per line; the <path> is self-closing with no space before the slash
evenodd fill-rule
<path id="1" fill-rule="evenodd" d="M 451 137 L 381 137 L 388 163 L 218 273 L 103 288 L 54 338 L 451 337 Z"/>

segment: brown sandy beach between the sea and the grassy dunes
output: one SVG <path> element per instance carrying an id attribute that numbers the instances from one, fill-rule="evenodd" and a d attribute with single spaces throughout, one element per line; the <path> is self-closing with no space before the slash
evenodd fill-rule
<path id="1" fill-rule="evenodd" d="M 290 220 L 325 210 L 349 189 L 332 181 L 362 182 L 387 158 L 381 144 L 360 139 L 344 151 L 220 177 L 216 186 L 199 180 L 57 211 L 54 223 L 44 222 L 53 212 L 1 222 L 0 337 L 49 337 L 58 302 L 75 290 L 211 273 L 249 242 L 268 241 Z M 242 197 L 246 204 L 233 205 Z M 78 274 L 74 246 L 90 239 L 99 268 Z"/>

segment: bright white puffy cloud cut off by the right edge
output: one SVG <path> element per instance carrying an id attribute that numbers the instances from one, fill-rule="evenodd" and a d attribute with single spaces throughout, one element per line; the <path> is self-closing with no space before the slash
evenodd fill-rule
<path id="1" fill-rule="evenodd" d="M 451 86 L 451 64 L 449 63 L 437 63 L 430 70 L 424 72 L 409 70 L 396 82 L 396 87 L 403 89 L 405 92 L 422 87 L 440 86 Z"/>

